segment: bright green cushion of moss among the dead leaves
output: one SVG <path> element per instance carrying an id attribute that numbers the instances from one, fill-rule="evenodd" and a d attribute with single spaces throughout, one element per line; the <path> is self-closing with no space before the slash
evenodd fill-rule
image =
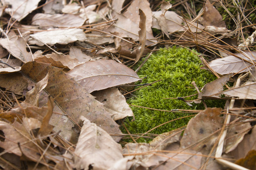
<path id="1" fill-rule="evenodd" d="M 152 54 L 139 70 L 138 75 L 140 77 L 147 76 L 146 79 L 143 79 L 142 83 L 152 83 L 159 79 L 162 80 L 151 86 L 137 90 L 134 93 L 136 97 L 129 99 L 128 103 L 159 110 L 204 109 L 202 104 L 192 103 L 193 106 L 191 107 L 181 100 L 163 99 L 195 94 L 197 92 L 191 84 L 192 81 L 195 81 L 198 87 L 203 87 L 206 83 L 216 79 L 209 71 L 201 69 L 201 60 L 197 56 L 198 53 L 194 50 L 192 51 L 185 48 L 173 47 L 160 49 L 157 53 Z M 197 96 L 193 96 L 186 98 L 186 100 L 196 98 Z M 210 101 L 207 105 L 208 107 L 219 107 L 223 105 L 223 102 Z M 128 127 L 129 132 L 132 134 L 145 133 L 169 120 L 190 115 L 189 113 L 164 112 L 138 107 L 131 108 L 135 115 L 135 121 L 126 119 L 125 126 Z M 161 134 L 171 131 L 186 125 L 189 119 L 183 118 L 176 120 L 158 127 L 150 133 Z M 123 132 L 125 133 L 126 131 L 123 129 Z M 141 138 L 140 142 L 145 141 Z"/>

